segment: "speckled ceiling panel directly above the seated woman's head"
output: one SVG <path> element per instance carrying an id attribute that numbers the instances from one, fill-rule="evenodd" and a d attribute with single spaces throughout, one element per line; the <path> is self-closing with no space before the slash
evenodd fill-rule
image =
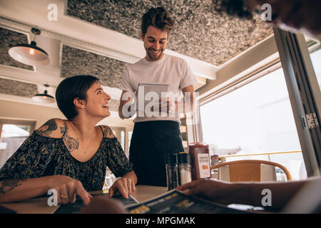
<path id="1" fill-rule="evenodd" d="M 63 46 L 61 77 L 91 75 L 100 79 L 102 86 L 119 88 L 126 63 L 96 53 Z"/>

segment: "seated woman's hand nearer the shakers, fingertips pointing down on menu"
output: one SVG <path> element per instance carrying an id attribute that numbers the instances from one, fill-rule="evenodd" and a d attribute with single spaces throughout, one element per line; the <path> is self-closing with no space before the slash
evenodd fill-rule
<path id="1" fill-rule="evenodd" d="M 109 197 L 113 197 L 116 190 L 118 190 L 124 198 L 128 199 L 128 194 L 136 191 L 135 182 L 133 182 L 131 178 L 121 177 L 109 188 Z"/>

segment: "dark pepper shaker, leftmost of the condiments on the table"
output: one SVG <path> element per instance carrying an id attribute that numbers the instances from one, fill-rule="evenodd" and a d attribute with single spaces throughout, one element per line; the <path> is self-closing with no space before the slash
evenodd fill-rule
<path id="1" fill-rule="evenodd" d="M 165 155 L 167 190 L 178 187 L 178 165 L 177 154 Z"/>

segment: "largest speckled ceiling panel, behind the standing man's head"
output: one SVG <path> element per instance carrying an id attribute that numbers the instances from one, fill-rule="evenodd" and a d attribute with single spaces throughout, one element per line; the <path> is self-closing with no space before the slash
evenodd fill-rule
<path id="1" fill-rule="evenodd" d="M 78 1 L 67 14 L 128 36 L 140 38 L 141 16 L 163 6 L 175 19 L 168 48 L 220 66 L 272 34 L 259 18 L 243 21 L 213 10 L 210 0 Z"/>

